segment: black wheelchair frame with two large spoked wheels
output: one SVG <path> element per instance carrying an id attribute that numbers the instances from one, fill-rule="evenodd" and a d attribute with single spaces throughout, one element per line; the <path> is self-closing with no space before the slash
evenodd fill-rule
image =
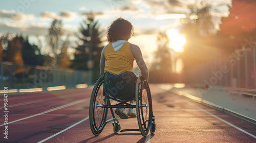
<path id="1" fill-rule="evenodd" d="M 139 130 L 143 136 L 148 132 L 154 133 L 156 130 L 155 117 L 152 110 L 151 92 L 147 81 L 142 80 L 141 76 L 136 81 L 135 99 L 121 101 L 113 98 L 111 95 L 103 91 L 104 77 L 101 76 L 95 83 L 92 96 L 90 100 L 90 127 L 92 133 L 98 136 L 106 124 L 113 121 L 113 131 L 117 133 L 121 130 L 118 118 L 115 117 L 113 108 L 136 108 L 137 121 Z M 97 100 L 98 99 L 98 100 Z M 110 100 L 119 102 L 118 104 L 111 105 Z M 127 102 L 135 100 L 136 105 L 131 105 Z M 145 109 L 144 109 L 145 108 Z M 106 120 L 108 110 L 110 109 L 112 118 Z"/>

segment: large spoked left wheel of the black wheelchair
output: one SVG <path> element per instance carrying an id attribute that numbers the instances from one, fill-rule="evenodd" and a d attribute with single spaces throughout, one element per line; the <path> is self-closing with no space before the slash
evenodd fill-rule
<path id="1" fill-rule="evenodd" d="M 104 127 L 103 124 L 106 121 L 106 116 L 108 115 L 108 108 L 102 108 L 100 105 L 106 105 L 107 101 L 103 95 L 103 76 L 101 76 L 95 83 L 91 101 L 90 101 L 90 127 L 92 133 L 98 136 Z"/>

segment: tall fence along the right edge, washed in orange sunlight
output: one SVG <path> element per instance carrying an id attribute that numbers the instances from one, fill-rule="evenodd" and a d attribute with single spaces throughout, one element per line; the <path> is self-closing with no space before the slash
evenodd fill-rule
<path id="1" fill-rule="evenodd" d="M 227 57 L 189 69 L 187 83 L 256 91 L 256 47 L 243 47 Z"/>

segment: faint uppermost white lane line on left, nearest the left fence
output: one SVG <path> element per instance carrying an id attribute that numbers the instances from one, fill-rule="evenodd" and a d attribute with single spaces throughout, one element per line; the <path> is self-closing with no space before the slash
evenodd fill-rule
<path id="1" fill-rule="evenodd" d="M 81 94 L 78 94 L 78 95 L 75 95 L 75 96 L 71 95 L 71 96 L 65 96 L 65 97 L 52 97 L 52 98 L 39 99 L 39 100 L 34 100 L 34 101 L 29 101 L 29 102 L 17 103 L 17 104 L 9 105 L 8 108 L 15 107 L 15 106 L 27 105 L 27 104 L 33 104 L 33 103 L 38 103 L 38 102 L 45 102 L 45 101 L 49 101 L 49 100 L 57 100 L 57 99 L 63 99 L 63 98 L 69 98 L 69 97 L 77 97 L 77 96 L 81 96 L 83 94 L 84 93 L 81 93 Z M 4 109 L 4 106 L 0 107 L 0 109 Z"/>

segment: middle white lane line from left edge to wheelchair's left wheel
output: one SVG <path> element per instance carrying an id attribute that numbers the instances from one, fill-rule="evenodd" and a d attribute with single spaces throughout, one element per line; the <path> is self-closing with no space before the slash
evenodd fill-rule
<path id="1" fill-rule="evenodd" d="M 75 104 L 78 104 L 78 103 L 82 103 L 82 102 L 88 101 L 88 100 L 90 100 L 90 99 L 91 99 L 91 98 L 86 98 L 86 99 L 83 99 L 83 100 L 75 101 L 75 102 L 72 102 L 72 103 L 69 103 L 69 104 L 66 104 L 66 105 L 62 105 L 62 106 L 59 106 L 59 107 L 56 107 L 56 108 L 53 108 L 53 109 L 50 109 L 50 110 L 47 110 L 47 111 L 44 111 L 44 112 L 40 112 L 40 113 L 31 115 L 31 116 L 27 116 L 27 117 L 24 117 L 24 118 L 20 118 L 19 120 L 15 120 L 15 121 L 9 122 L 8 124 L 15 123 L 15 122 L 18 122 L 18 121 L 22 121 L 22 120 L 25 120 L 25 119 L 27 119 L 27 118 L 31 118 L 31 117 L 34 117 L 34 116 L 38 116 L 38 115 L 41 115 L 41 114 L 49 113 L 49 112 L 52 112 L 52 111 L 55 111 L 55 110 L 58 110 L 58 109 L 61 109 L 61 108 L 69 107 L 69 106 L 72 106 L 72 105 L 75 105 Z M 5 125 L 5 124 L 0 125 L 0 127 L 1 127 L 1 126 L 4 126 L 4 125 Z"/>

